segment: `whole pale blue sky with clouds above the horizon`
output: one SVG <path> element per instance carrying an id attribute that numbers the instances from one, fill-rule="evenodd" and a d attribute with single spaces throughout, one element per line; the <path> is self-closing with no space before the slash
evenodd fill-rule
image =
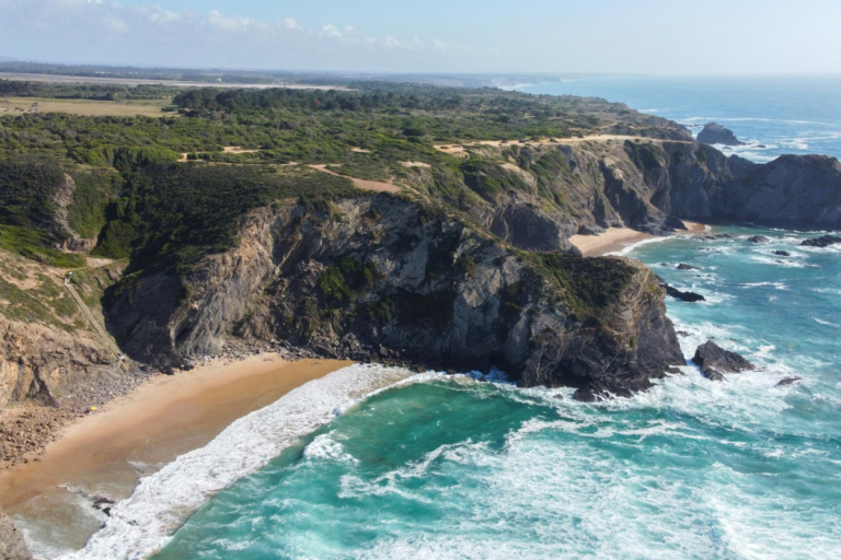
<path id="1" fill-rule="evenodd" d="M 839 0 L 0 0 L 0 57 L 347 72 L 841 73 Z"/>

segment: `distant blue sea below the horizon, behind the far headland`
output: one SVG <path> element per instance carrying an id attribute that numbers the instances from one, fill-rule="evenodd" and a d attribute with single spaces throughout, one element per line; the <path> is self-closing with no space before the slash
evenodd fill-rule
<path id="1" fill-rule="evenodd" d="M 841 158 L 841 75 L 601 77 L 520 90 L 625 103 L 644 113 L 689 125 L 695 135 L 706 122 L 717 121 L 748 142 L 725 153 L 737 153 L 760 163 L 784 153 Z"/>

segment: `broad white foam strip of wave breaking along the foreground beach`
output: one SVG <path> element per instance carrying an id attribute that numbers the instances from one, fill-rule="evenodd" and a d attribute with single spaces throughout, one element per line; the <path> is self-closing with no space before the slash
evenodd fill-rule
<path id="1" fill-rule="evenodd" d="M 366 395 L 412 376 L 378 365 L 352 365 L 291 390 L 232 423 L 203 448 L 145 478 L 118 503 L 105 526 L 67 560 L 139 559 L 163 546 L 208 498 L 257 470 Z"/>

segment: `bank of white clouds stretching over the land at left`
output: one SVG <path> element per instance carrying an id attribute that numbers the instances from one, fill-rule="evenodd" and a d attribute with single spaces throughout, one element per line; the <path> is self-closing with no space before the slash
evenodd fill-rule
<path id="1" fill-rule="evenodd" d="M 0 0 L 0 54 L 101 63 L 394 70 L 440 65 L 445 42 L 108 0 Z M 427 56 L 427 60 L 420 57 Z"/>

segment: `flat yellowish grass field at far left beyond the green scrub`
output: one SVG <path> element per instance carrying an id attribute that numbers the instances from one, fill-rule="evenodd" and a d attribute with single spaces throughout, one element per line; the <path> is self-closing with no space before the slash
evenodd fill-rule
<path id="1" fill-rule="evenodd" d="M 150 101 L 90 101 L 90 100 L 48 100 L 44 97 L 0 97 L 0 116 L 23 115 L 18 109 L 28 110 L 33 103 L 38 104 L 38 113 L 69 113 L 87 117 L 160 117 L 163 115 L 176 115 L 163 113 L 163 107 L 169 106 L 169 100 Z M 7 109 L 7 110 L 3 110 Z"/>

